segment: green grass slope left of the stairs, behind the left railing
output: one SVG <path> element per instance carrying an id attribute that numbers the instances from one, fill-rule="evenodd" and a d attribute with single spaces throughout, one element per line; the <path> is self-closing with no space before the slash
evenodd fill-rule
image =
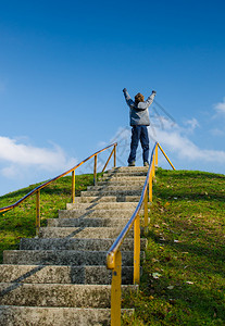
<path id="1" fill-rule="evenodd" d="M 41 183 L 42 184 L 42 183 Z M 76 196 L 93 184 L 92 175 L 76 176 Z M 10 205 L 27 195 L 40 184 L 10 192 L 0 197 L 0 208 Z M 64 210 L 71 202 L 72 178 L 63 177 L 40 190 L 40 218 L 41 226 L 46 226 L 47 218 L 58 217 L 58 211 Z M 2 263 L 3 250 L 18 249 L 21 238 L 33 238 L 36 235 L 36 195 L 28 198 L 20 206 L 7 213 L 0 214 L 0 263 Z"/>

